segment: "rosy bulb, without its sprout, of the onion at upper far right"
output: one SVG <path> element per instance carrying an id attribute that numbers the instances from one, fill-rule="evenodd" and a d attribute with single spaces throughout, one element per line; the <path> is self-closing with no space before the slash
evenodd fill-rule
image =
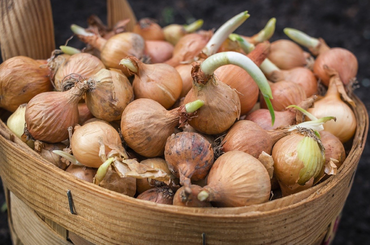
<path id="1" fill-rule="evenodd" d="M 313 72 L 321 79 L 323 84 L 329 86 L 330 75 L 328 75 L 324 66 L 336 70 L 340 79 L 346 85 L 355 79 L 358 71 L 356 56 L 344 48 L 331 48 L 316 57 Z"/>

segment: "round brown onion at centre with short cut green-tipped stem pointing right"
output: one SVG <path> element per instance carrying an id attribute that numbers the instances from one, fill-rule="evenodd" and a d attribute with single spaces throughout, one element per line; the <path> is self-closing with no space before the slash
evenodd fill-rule
<path id="1" fill-rule="evenodd" d="M 175 127 L 185 125 L 194 112 L 203 105 L 202 101 L 167 111 L 152 99 L 135 99 L 123 111 L 121 133 L 125 143 L 136 153 L 145 157 L 163 155 L 167 138 Z"/>

